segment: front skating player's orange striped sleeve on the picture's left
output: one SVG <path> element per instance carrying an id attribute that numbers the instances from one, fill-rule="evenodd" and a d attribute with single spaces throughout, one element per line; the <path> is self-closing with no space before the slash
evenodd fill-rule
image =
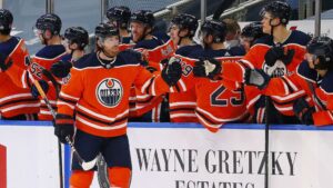
<path id="1" fill-rule="evenodd" d="M 72 68 L 69 81 L 61 87 L 59 99 L 57 102 L 58 113 L 73 116 L 77 102 L 83 92 L 83 71 Z"/>

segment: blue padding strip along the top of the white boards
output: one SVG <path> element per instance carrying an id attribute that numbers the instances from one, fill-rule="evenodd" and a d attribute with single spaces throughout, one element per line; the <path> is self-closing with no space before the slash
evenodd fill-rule
<path id="1" fill-rule="evenodd" d="M 0 126 L 52 126 L 51 121 L 11 121 L 0 120 Z M 203 129 L 200 123 L 170 123 L 170 122 L 130 122 L 130 128 L 190 128 L 190 129 Z M 265 125 L 256 123 L 228 123 L 222 126 L 221 129 L 264 129 Z M 333 126 L 315 127 L 304 125 L 271 125 L 271 130 L 325 130 L 332 131 Z"/>

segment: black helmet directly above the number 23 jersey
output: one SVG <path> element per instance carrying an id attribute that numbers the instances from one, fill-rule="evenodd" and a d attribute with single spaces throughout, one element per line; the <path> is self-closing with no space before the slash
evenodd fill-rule
<path id="1" fill-rule="evenodd" d="M 226 26 L 223 21 L 206 20 L 201 26 L 201 32 L 213 36 L 213 42 L 223 42 L 226 34 Z"/>

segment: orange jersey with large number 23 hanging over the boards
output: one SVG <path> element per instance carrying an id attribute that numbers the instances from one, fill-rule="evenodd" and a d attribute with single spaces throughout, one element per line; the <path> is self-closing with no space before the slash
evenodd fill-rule
<path id="1" fill-rule="evenodd" d="M 222 65 L 224 62 L 234 63 L 242 58 L 230 57 L 226 50 L 208 50 L 203 52 L 208 57 L 220 60 Z M 216 55 L 220 55 L 220 57 Z M 198 61 L 198 59 L 190 58 L 183 58 L 182 60 L 192 67 Z M 188 89 L 191 89 L 191 87 L 195 88 L 195 115 L 200 123 L 210 131 L 216 132 L 222 125 L 228 122 L 243 122 L 248 120 L 249 112 L 246 110 L 245 92 L 240 83 L 225 79 L 212 81 L 208 78 L 195 78 L 193 73 L 182 78 Z"/>

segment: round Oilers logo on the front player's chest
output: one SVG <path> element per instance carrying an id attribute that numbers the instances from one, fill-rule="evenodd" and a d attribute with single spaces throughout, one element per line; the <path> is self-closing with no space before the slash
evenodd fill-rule
<path id="1" fill-rule="evenodd" d="M 123 96 L 119 80 L 107 78 L 97 87 L 97 97 L 104 107 L 117 107 Z"/>

